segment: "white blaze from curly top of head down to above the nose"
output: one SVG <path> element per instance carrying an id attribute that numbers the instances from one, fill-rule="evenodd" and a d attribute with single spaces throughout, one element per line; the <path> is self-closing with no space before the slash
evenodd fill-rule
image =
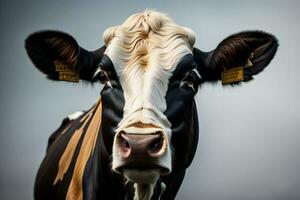
<path id="1" fill-rule="evenodd" d="M 145 11 L 108 29 L 104 40 L 105 54 L 112 60 L 124 92 L 119 129 L 140 121 L 170 134 L 170 122 L 163 114 L 168 81 L 181 58 L 192 53 L 194 33 L 164 14 Z"/>

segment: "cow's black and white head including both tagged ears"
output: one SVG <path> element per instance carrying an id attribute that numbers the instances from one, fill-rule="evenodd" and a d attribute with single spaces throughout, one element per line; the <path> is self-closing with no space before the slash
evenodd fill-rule
<path id="1" fill-rule="evenodd" d="M 190 29 L 155 11 L 132 15 L 109 28 L 104 41 L 99 50 L 86 51 L 66 33 L 42 31 L 29 36 L 26 49 L 50 79 L 104 84 L 105 147 L 112 154 L 112 169 L 137 188 L 151 188 L 161 175 L 189 162 L 189 135 L 198 131 L 198 87 L 251 80 L 278 46 L 270 34 L 246 31 L 202 52 L 194 47 Z"/>

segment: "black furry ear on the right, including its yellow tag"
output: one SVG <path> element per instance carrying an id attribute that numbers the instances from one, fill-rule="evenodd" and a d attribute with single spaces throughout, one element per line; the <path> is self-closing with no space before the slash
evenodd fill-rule
<path id="1" fill-rule="evenodd" d="M 194 48 L 202 81 L 236 84 L 253 79 L 272 60 L 277 39 L 262 31 L 245 31 L 229 36 L 215 50 L 202 52 Z"/>

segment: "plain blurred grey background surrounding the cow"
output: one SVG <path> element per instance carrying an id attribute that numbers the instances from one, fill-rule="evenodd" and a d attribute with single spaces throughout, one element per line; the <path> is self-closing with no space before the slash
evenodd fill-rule
<path id="1" fill-rule="evenodd" d="M 199 146 L 177 199 L 300 199 L 300 3 L 276 0 L 1 1 L 0 199 L 33 198 L 49 134 L 67 114 L 88 109 L 101 89 L 46 80 L 26 56 L 25 37 L 59 29 L 92 50 L 103 44 L 106 28 L 146 8 L 193 29 L 202 50 L 247 29 L 280 41 L 275 59 L 253 82 L 199 90 Z"/>

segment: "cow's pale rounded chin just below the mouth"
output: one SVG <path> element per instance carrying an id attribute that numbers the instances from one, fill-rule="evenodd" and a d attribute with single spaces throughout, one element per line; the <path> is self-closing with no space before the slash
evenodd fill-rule
<path id="1" fill-rule="evenodd" d="M 124 169 L 123 175 L 131 182 L 139 184 L 155 184 L 160 176 L 159 169 Z"/>

